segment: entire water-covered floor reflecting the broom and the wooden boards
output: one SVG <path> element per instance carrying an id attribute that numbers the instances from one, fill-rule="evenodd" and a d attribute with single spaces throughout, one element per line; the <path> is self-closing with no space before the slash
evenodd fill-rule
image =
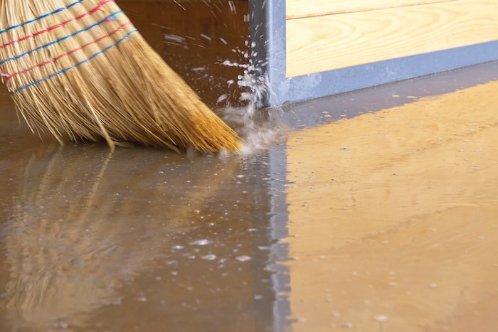
<path id="1" fill-rule="evenodd" d="M 286 138 L 221 158 L 59 146 L 1 87 L 0 331 L 494 331 L 497 88 L 271 109 Z"/>

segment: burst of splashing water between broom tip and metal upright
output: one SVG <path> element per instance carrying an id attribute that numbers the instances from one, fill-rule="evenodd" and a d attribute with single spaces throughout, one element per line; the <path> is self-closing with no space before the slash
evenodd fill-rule
<path id="1" fill-rule="evenodd" d="M 236 17 L 237 22 L 247 28 L 249 15 L 238 11 L 245 9 L 235 2 L 227 1 L 223 5 L 228 6 L 228 11 L 224 11 L 225 15 L 233 16 L 225 22 L 232 26 L 229 22 L 235 22 Z M 218 11 L 221 13 L 221 9 Z M 164 43 L 184 48 L 182 54 L 185 54 L 185 61 L 180 61 L 179 65 L 187 64 L 184 76 L 189 84 L 196 86 L 196 92 L 208 106 L 215 108 L 215 112 L 243 139 L 240 152 L 243 156 L 264 151 L 284 141 L 287 132 L 263 108 L 268 91 L 266 63 L 258 56 L 260 45 L 252 41 L 250 31 L 245 28 L 211 29 L 196 31 L 195 34 L 192 34 L 194 31 L 189 31 L 190 36 L 183 36 L 180 31 L 172 28 L 164 28 L 163 32 Z M 206 46 L 208 50 L 199 49 L 206 49 Z M 190 53 L 217 55 L 214 58 L 194 57 L 196 63 L 193 63 L 194 58 L 188 58 Z"/>

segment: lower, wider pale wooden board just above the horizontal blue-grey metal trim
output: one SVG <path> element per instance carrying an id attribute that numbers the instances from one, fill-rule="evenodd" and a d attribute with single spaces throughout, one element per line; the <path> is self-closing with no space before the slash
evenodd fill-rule
<path id="1" fill-rule="evenodd" d="M 287 21 L 287 77 L 498 40 L 498 1 L 461 0 Z"/>

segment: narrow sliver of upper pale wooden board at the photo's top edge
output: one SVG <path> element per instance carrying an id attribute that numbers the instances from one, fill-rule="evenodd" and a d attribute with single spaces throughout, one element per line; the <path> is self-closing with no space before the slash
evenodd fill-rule
<path id="1" fill-rule="evenodd" d="M 418 6 L 460 0 L 287 0 L 287 19 Z"/>

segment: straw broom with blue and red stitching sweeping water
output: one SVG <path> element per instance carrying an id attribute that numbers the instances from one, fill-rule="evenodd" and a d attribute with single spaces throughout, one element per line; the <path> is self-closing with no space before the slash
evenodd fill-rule
<path id="1" fill-rule="evenodd" d="M 238 150 L 114 0 L 0 0 L 0 73 L 31 130 L 61 144 Z"/>

